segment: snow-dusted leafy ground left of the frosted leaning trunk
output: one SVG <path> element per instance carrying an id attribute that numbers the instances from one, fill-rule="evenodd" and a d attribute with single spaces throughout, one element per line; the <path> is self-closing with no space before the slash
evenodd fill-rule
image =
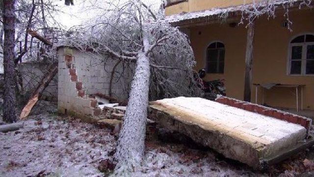
<path id="1" fill-rule="evenodd" d="M 62 176 L 102 176 L 98 163 L 109 158 L 114 137 L 78 121 L 54 117 L 25 121 L 25 127 L 0 133 L 0 176 L 26 177 L 40 173 Z M 72 175 L 69 175 L 72 174 Z"/>

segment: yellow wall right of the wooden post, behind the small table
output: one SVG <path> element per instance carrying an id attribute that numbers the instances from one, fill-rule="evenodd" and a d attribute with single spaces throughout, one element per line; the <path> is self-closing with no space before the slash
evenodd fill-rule
<path id="1" fill-rule="evenodd" d="M 304 108 L 314 110 L 314 76 L 289 76 L 288 44 L 294 37 L 304 34 L 314 34 L 314 11 L 292 11 L 289 18 L 293 22 L 292 31 L 282 27 L 286 20 L 282 13 L 277 14 L 275 20 L 262 18 L 256 23 L 254 43 L 253 82 L 254 83 L 282 83 L 304 84 Z M 258 102 L 262 101 L 262 90 L 258 90 Z M 299 88 L 299 108 L 301 106 L 301 92 Z M 272 88 L 265 90 L 265 103 L 277 107 L 296 107 L 296 93 L 294 88 Z M 255 101 L 253 87 L 252 101 Z"/>

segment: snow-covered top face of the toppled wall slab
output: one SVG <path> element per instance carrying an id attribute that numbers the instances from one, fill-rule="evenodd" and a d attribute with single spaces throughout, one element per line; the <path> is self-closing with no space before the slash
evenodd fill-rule
<path id="1" fill-rule="evenodd" d="M 211 123 L 212 125 L 223 125 L 229 127 L 231 131 L 255 136 L 256 141 L 266 145 L 283 138 L 288 138 L 292 134 L 300 134 L 299 138 L 304 139 L 306 134 L 306 129 L 303 126 L 215 101 L 201 98 L 179 97 L 175 99 L 164 99 L 158 102 L 175 106 L 178 110 L 199 115 L 195 118 L 205 118 L 205 120 L 203 119 L 202 121 Z M 297 141 L 300 139 L 297 139 Z"/>

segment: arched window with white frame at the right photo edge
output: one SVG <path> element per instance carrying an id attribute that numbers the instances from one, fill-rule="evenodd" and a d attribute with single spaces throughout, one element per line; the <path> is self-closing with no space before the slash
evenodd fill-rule
<path id="1" fill-rule="evenodd" d="M 289 45 L 289 74 L 314 75 L 314 35 L 298 36 Z"/>

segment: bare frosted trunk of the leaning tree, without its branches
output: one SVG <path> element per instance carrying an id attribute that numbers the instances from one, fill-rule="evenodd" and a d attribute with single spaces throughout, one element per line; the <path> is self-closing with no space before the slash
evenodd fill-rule
<path id="1" fill-rule="evenodd" d="M 125 173 L 131 170 L 129 167 L 139 164 L 144 155 L 150 83 L 150 62 L 146 55 L 148 45 L 148 38 L 144 35 L 145 49 L 138 54 L 128 107 L 117 142 L 116 172 L 122 170 L 122 173 Z"/>

